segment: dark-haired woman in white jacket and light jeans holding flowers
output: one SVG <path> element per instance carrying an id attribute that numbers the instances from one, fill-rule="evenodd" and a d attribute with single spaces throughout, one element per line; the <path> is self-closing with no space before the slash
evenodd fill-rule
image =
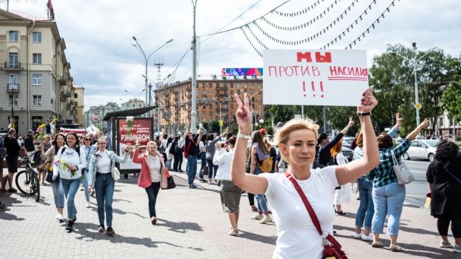
<path id="1" fill-rule="evenodd" d="M 67 218 L 68 223 L 65 229 L 68 232 L 74 230 L 74 223 L 77 220 L 76 206 L 74 203 L 75 194 L 80 186 L 82 169 L 87 166 L 85 152 L 81 152 L 77 146 L 78 136 L 71 132 L 65 137 L 65 146 L 58 150 L 56 161 L 53 165 L 53 178 L 61 174 L 61 184 L 64 194 L 67 197 Z"/>

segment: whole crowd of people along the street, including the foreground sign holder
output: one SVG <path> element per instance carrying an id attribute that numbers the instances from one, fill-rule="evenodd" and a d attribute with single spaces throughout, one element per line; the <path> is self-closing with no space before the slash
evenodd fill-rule
<path id="1" fill-rule="evenodd" d="M 228 128 L 221 135 L 214 135 L 200 130 L 192 133 L 188 126 L 177 136 L 164 132 L 158 135 L 147 144 L 145 152 L 141 152 L 138 146 L 133 148 L 133 162 L 141 167 L 138 186 L 147 193 L 152 225 L 158 221 L 156 203 L 160 190 L 166 188 L 168 173 L 186 173 L 191 189 L 197 188 L 196 180 L 219 186 L 222 209 L 230 221 L 229 235 L 239 236 L 240 201 L 246 192 L 250 209 L 257 212 L 251 219 L 261 224 L 274 221 L 277 225 L 275 258 L 299 258 L 305 254 L 321 258 L 326 237 L 319 235 L 309 210 L 318 215 L 319 228 L 334 235 L 334 218 L 347 215 L 343 204 L 350 202 L 352 186 L 356 186 L 360 205 L 356 212 L 355 232 L 351 236 L 370 242 L 372 247 L 383 247 L 380 235 L 384 233 L 387 218 L 387 234 L 391 239 L 389 250 L 404 250 L 397 239 L 405 185 L 398 183 L 393 165 L 400 164 L 400 157 L 418 133 L 429 125 L 429 120 L 424 120 L 396 144 L 393 139 L 403 120 L 397 113 L 396 124 L 391 130 L 376 137 L 370 115 L 378 101 L 371 89 L 365 91 L 362 106 L 357 107 L 361 131 L 356 133 L 352 142 L 354 158 L 348 161 L 341 148 L 344 135 L 354 125 L 353 117 L 331 140 L 328 134 L 319 134 L 317 124 L 305 119 L 277 124 L 272 139 L 264 128 L 250 132 L 248 95 L 244 95 L 244 100 L 235 95 L 235 99 L 239 125 L 236 136 Z M 17 172 L 17 153 L 21 148 L 15 134 L 11 128 L 4 139 L 10 186 L 12 176 Z M 26 152 L 36 150 L 31 141 L 33 136 L 31 131 L 23 139 Z M 41 163 L 51 165 L 49 169 L 39 170 L 41 183 L 45 184 L 45 177 L 52 172 L 50 185 L 56 218 L 59 222 L 64 221 L 63 209 L 67 205 L 66 229 L 69 232 L 77 220 L 74 197 L 82 185 L 86 207 L 91 206 L 90 196 L 96 192 L 98 231 L 115 234 L 112 226 L 114 167 L 116 163 L 127 161 L 131 146 L 125 148 L 123 157 L 106 147 L 106 137 L 92 134 L 80 139 L 75 133 L 49 134 L 39 143 Z M 461 252 L 460 154 L 456 144 L 443 139 L 438 144 L 436 159 L 427 169 L 431 215 L 438 218 L 440 247 L 453 247 L 455 252 Z M 184 159 L 185 172 L 182 171 Z M 200 161 L 200 168 L 197 161 Z M 10 188 L 9 192 L 16 190 Z M 9 208 L 0 202 L 0 210 Z M 448 240 L 450 224 L 454 246 Z"/>

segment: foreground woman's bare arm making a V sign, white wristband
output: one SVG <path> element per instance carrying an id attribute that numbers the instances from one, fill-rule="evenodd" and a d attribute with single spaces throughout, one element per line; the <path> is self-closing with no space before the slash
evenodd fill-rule
<path id="1" fill-rule="evenodd" d="M 232 164 L 230 165 L 230 181 L 247 192 L 264 193 L 268 188 L 266 177 L 245 173 L 246 146 L 251 135 L 251 112 L 248 105 L 248 94 L 244 94 L 244 103 L 240 100 L 239 95 L 235 94 L 235 102 L 237 102 L 238 106 L 235 117 L 237 117 L 239 124 L 239 134 L 237 135 Z"/>

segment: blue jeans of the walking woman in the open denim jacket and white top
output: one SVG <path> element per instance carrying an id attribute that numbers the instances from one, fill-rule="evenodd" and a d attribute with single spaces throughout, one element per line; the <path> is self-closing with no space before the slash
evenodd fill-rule
<path id="1" fill-rule="evenodd" d="M 112 174 L 97 176 L 94 182 L 96 202 L 98 203 L 99 224 L 104 225 L 105 211 L 107 227 L 112 226 L 112 199 L 114 198 L 114 187 L 115 183 Z"/>

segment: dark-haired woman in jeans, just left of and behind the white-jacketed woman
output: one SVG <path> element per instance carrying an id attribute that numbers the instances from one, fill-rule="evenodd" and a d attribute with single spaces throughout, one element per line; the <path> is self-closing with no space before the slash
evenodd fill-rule
<path id="1" fill-rule="evenodd" d="M 58 150 L 64 146 L 64 135 L 63 134 L 58 134 L 56 138 L 52 142 L 52 146 L 46 150 L 45 153 L 45 144 L 41 144 L 41 159 L 44 160 L 44 163 L 47 163 L 48 161 L 51 161 L 50 164 L 50 171 L 53 172 L 54 168 L 54 163 L 56 160 L 56 155 L 58 154 Z M 53 180 L 50 182 L 51 188 L 53 190 L 53 196 L 54 196 L 54 205 L 56 206 L 56 210 L 58 211 L 58 214 L 56 215 L 56 219 L 59 222 L 64 221 L 64 216 L 63 216 L 63 210 L 64 210 L 64 201 L 65 201 L 65 196 L 64 196 L 64 190 L 63 190 L 63 185 L 61 185 L 61 181 L 59 179 L 56 179 L 56 177 L 53 178 Z"/>

